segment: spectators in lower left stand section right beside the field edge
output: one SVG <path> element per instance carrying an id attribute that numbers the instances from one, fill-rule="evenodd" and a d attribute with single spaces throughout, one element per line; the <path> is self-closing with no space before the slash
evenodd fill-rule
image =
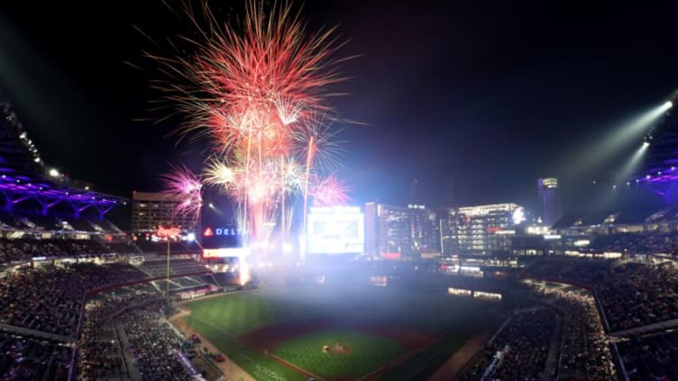
<path id="1" fill-rule="evenodd" d="M 144 304 L 120 316 L 134 366 L 142 379 L 189 381 L 192 377 L 175 357 L 184 339 L 164 318 L 173 310 L 165 300 Z"/>

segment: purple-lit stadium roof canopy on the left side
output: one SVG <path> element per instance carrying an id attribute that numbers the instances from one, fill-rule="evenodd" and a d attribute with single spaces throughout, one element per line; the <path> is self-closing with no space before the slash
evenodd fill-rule
<path id="1" fill-rule="evenodd" d="M 0 195 L 5 209 L 12 212 L 22 203 L 39 205 L 46 215 L 56 205 L 69 205 L 72 213 L 91 208 L 100 218 L 126 199 L 105 195 L 84 183 L 70 180 L 55 169 L 48 169 L 38 150 L 23 131 L 14 108 L 0 92 Z"/>

